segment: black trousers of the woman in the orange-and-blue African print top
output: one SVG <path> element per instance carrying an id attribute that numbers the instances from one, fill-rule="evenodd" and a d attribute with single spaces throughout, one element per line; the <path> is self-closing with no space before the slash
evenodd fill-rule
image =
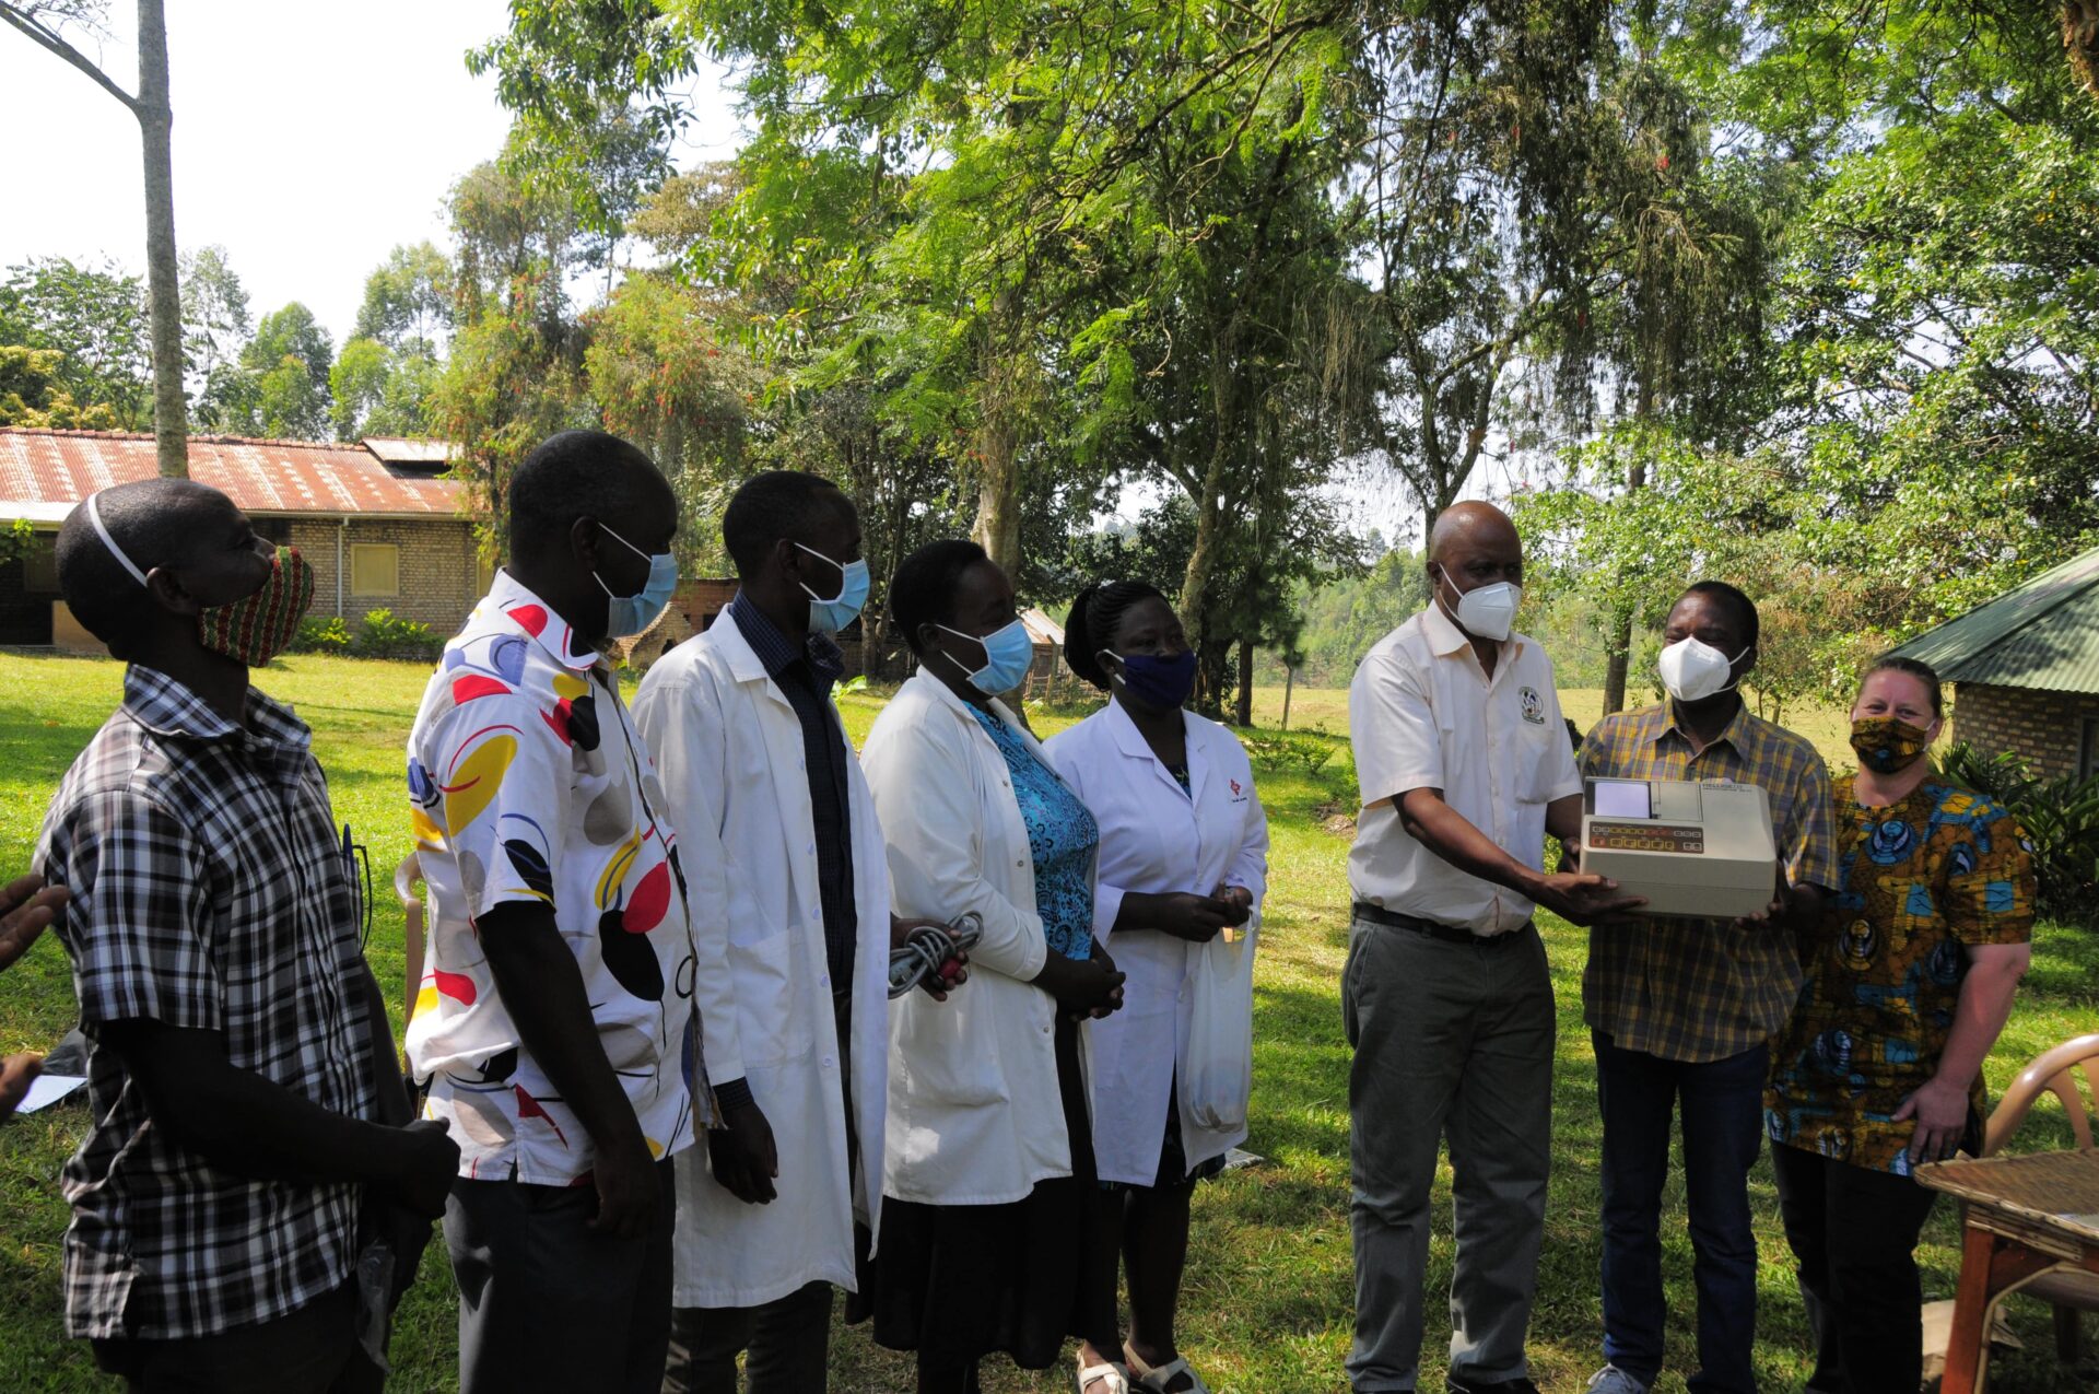
<path id="1" fill-rule="evenodd" d="M 1916 1237 L 1937 1192 L 1784 1144 L 1772 1146 L 1772 1169 L 1816 1337 L 1807 1388 L 1916 1394 L 1925 1339 Z"/>

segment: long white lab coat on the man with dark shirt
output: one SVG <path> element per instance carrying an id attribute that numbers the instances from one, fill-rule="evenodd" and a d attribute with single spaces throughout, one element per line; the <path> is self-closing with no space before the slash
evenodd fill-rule
<path id="1" fill-rule="evenodd" d="M 867 1165 L 846 1155 L 838 1022 L 823 947 L 802 724 L 724 615 L 649 670 L 634 722 L 663 775 L 693 901 L 693 1004 L 709 1079 L 749 1079 L 779 1144 L 779 1197 L 747 1205 L 707 1148 L 678 1157 L 678 1306 L 745 1308 L 806 1283 L 854 1289 L 852 1222 L 879 1226 L 888 1079 L 890 873 L 852 747 L 852 1113 Z M 844 735 L 840 735 L 844 745 Z"/>

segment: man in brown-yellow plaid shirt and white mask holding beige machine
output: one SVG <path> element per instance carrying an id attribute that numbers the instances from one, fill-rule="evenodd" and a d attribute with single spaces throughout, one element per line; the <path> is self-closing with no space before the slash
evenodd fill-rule
<path id="1" fill-rule="evenodd" d="M 1608 716 L 1581 749 L 1591 779 L 1730 779 L 1759 785 L 1784 861 L 1765 911 L 1736 922 L 1631 915 L 1589 930 L 1583 1014 L 1604 1113 L 1604 1365 L 1593 1394 L 1646 1394 L 1662 1369 L 1662 1184 L 1683 1108 L 1683 1182 L 1698 1283 L 1694 1392 L 1751 1394 L 1757 1239 L 1748 1169 L 1763 1142 L 1769 1037 L 1801 991 L 1795 926 L 1837 884 L 1828 770 L 1805 739 L 1742 705 L 1757 607 L 1700 582 L 1669 611 L 1671 699 Z"/>

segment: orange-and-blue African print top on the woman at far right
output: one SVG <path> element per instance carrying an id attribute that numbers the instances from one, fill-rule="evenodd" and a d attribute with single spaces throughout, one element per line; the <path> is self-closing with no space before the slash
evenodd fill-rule
<path id="1" fill-rule="evenodd" d="M 1916 1123 L 1893 1115 L 1939 1064 L 1967 949 L 2032 938 L 2034 857 L 2002 804 L 1948 779 L 1925 779 L 1885 808 L 1860 804 L 1853 779 L 1830 794 L 1843 882 L 1801 936 L 1807 983 L 1772 1046 L 1765 1129 L 1772 1142 L 1908 1176 Z M 1979 1075 L 1969 1106 L 1979 1121 Z"/>

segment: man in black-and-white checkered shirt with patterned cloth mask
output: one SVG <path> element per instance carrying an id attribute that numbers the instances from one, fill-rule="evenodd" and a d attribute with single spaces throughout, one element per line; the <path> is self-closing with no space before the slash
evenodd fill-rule
<path id="1" fill-rule="evenodd" d="M 458 1148 L 407 1123 L 311 733 L 248 682 L 311 573 L 227 495 L 155 479 L 73 510 L 59 586 L 130 663 L 36 854 L 73 896 L 88 1037 L 67 1331 L 134 1390 L 376 1388 L 363 1188 L 434 1218 Z"/>

